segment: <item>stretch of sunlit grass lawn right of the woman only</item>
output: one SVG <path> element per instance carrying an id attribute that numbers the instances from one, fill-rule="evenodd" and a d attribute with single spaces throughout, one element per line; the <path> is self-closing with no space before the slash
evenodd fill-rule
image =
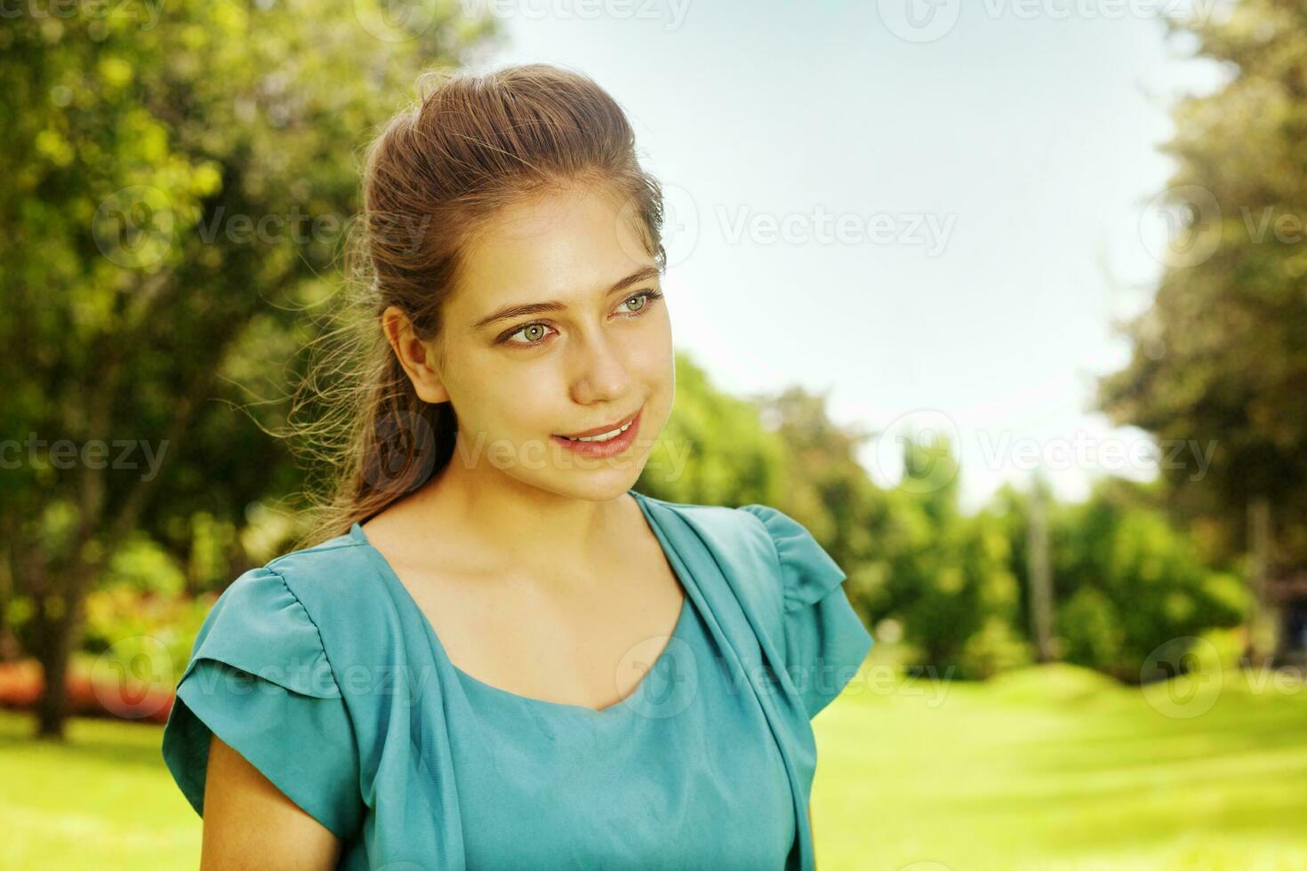
<path id="1" fill-rule="evenodd" d="M 821 871 L 1307 868 L 1307 686 L 1264 671 L 856 679 L 814 729 Z"/>

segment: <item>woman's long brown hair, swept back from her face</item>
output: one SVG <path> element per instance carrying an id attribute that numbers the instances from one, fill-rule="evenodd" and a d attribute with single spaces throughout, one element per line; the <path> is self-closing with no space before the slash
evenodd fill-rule
<path id="1" fill-rule="evenodd" d="M 437 71 L 434 89 L 397 112 L 367 148 L 363 215 L 352 230 L 345 311 L 324 364 L 311 364 L 291 409 L 318 406 L 303 436 L 327 470 L 312 484 L 306 547 L 349 530 L 439 473 L 454 453 L 448 402 L 418 398 L 380 328 L 389 306 L 439 343 L 442 311 L 468 243 L 505 208 L 571 184 L 623 197 L 659 270 L 663 193 L 635 155 L 618 103 L 589 77 L 548 64 L 484 74 Z M 316 342 L 315 342 L 316 343 Z M 298 449 L 298 448 L 297 448 Z"/>

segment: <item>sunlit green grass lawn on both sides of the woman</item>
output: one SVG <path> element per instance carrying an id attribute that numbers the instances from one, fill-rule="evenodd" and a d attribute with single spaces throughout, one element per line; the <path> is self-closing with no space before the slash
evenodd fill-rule
<path id="1" fill-rule="evenodd" d="M 821 871 L 1307 868 L 1302 684 L 1209 674 L 1182 704 L 1184 686 L 1065 666 L 874 678 L 814 722 Z M 65 746 L 30 729 L 0 713 L 0 867 L 197 866 L 158 726 L 73 720 Z"/>

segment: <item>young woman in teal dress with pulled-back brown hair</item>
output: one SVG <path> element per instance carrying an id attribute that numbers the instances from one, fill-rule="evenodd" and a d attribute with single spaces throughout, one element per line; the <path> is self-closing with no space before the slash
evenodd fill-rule
<path id="1" fill-rule="evenodd" d="M 365 202 L 325 533 L 222 594 L 165 730 L 204 867 L 812 868 L 810 720 L 872 639 L 784 513 L 631 488 L 674 370 L 621 108 L 447 77 Z"/>

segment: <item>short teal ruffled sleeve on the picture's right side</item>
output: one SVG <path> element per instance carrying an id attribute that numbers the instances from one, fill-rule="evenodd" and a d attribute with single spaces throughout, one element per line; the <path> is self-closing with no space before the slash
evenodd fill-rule
<path id="1" fill-rule="evenodd" d="M 770 505 L 740 511 L 762 521 L 775 547 L 786 671 L 810 720 L 848 686 L 873 639 L 844 593 L 846 573 L 802 524 Z"/>

